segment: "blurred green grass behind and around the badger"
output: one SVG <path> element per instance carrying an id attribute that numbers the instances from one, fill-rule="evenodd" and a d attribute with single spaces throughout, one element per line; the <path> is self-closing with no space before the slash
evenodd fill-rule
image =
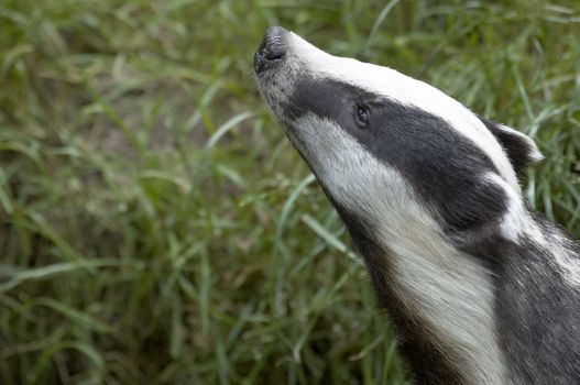
<path id="1" fill-rule="evenodd" d="M 529 133 L 530 202 L 579 237 L 579 8 L 2 0 L 0 383 L 403 383 L 253 52 L 281 24 Z"/>

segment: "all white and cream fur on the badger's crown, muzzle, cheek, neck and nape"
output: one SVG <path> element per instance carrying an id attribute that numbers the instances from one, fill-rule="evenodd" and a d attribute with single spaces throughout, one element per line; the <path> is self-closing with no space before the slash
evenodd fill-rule
<path id="1" fill-rule="evenodd" d="M 499 174 L 481 177 L 505 193 L 507 209 L 499 223 L 502 234 L 515 242 L 525 238 L 552 254 L 550 263 L 563 280 L 580 290 L 580 262 L 572 256 L 572 241 L 557 228 L 532 218 L 505 151 L 464 106 L 393 69 L 326 54 L 293 33 L 287 42 L 287 58 L 282 67 L 262 74 L 259 80 L 266 86 L 261 91 L 270 106 L 287 123 L 288 138 L 332 199 L 373 224 L 373 239 L 390 251 L 384 256 L 392 268 L 389 285 L 404 298 L 403 306 L 436 337 L 434 342 L 449 348 L 445 350 L 448 363 L 470 384 L 511 385 L 495 324 L 493 273 L 482 261 L 451 243 L 438 216 L 416 196 L 400 172 L 377 161 L 336 122 L 314 113 L 297 119 L 285 117 L 282 105 L 292 95 L 297 78 L 307 73 L 309 77 L 348 82 L 435 114 L 495 165 Z M 543 158 L 529 138 L 505 125 L 499 129 L 525 140 L 530 161 Z"/>

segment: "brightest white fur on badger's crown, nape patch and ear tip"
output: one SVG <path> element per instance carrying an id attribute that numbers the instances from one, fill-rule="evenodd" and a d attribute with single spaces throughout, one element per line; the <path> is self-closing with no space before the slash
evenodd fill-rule
<path id="1" fill-rule="evenodd" d="M 294 33 L 288 34 L 287 38 L 292 46 L 291 55 L 305 68 L 303 70 L 307 70 L 311 76 L 349 82 L 403 105 L 423 109 L 447 121 L 451 128 L 488 154 L 497 168 L 501 177 L 493 176 L 494 183 L 500 184 L 510 198 L 510 209 L 502 223 L 504 235 L 517 241 L 519 237 L 528 234 L 538 242 L 541 241 L 541 233 L 529 220 L 524 207 L 522 189 L 507 155 L 473 112 L 437 88 L 394 69 L 329 55 Z M 506 125 L 499 127 L 524 139 L 529 144 L 533 161 L 544 158 L 528 136 Z"/>

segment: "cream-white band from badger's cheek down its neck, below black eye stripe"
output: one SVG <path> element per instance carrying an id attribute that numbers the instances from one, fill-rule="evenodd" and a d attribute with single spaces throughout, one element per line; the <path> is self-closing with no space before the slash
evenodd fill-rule
<path id="1" fill-rule="evenodd" d="M 393 286 L 452 348 L 446 352 L 449 363 L 472 384 L 510 384 L 495 333 L 490 272 L 447 241 L 398 172 L 336 123 L 306 114 L 288 135 L 336 201 L 379 224 L 377 238 L 394 253 Z"/>

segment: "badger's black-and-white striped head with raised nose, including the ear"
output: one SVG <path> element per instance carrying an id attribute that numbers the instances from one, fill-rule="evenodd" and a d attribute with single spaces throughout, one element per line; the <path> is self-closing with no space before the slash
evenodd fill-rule
<path id="1" fill-rule="evenodd" d="M 426 228 L 460 248 L 526 231 L 526 135 L 396 70 L 329 55 L 280 26 L 254 57 L 260 90 L 348 226 Z M 360 222 L 360 220 L 359 220 Z"/>

